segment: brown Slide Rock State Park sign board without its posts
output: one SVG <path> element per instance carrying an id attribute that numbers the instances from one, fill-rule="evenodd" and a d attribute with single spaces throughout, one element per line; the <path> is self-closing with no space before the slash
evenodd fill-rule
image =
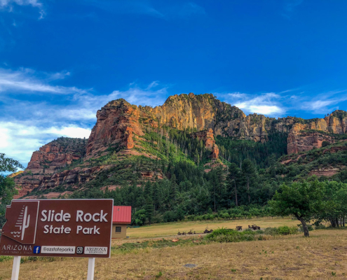
<path id="1" fill-rule="evenodd" d="M 0 255 L 109 258 L 113 200 L 12 200 Z"/>

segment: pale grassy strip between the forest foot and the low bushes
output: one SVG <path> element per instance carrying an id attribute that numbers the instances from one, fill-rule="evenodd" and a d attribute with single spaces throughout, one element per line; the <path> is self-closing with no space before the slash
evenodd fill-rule
<path id="1" fill-rule="evenodd" d="M 261 228 L 279 227 L 281 225 L 298 225 L 299 221 L 291 218 L 253 218 L 232 221 L 197 221 L 197 222 L 179 222 L 179 223 L 161 223 L 141 228 L 128 228 L 127 235 L 130 239 L 149 238 L 149 237 L 165 237 L 169 235 L 177 235 L 177 232 L 189 232 L 193 229 L 196 232 L 203 232 L 208 226 L 209 229 L 231 228 L 235 230 L 236 225 L 242 225 L 243 229 L 248 225 L 256 224 Z"/>

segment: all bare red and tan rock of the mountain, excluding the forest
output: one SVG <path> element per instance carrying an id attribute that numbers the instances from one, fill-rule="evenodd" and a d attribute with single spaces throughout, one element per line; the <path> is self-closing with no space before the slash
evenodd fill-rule
<path id="1" fill-rule="evenodd" d="M 141 141 L 143 143 L 147 132 L 164 133 L 164 127 L 191 130 L 190 136 L 203 141 L 212 160 L 217 160 L 219 155 L 215 144 L 218 135 L 264 143 L 273 132 L 285 133 L 287 153 L 291 154 L 320 148 L 323 141 L 334 143 L 335 135 L 347 132 L 347 112 L 338 110 L 325 118 L 311 120 L 290 116 L 268 118 L 257 113 L 246 116 L 236 106 L 219 101 L 213 94 L 173 95 L 162 106 L 154 108 L 117 99 L 97 111 L 97 122 L 88 142 L 61 138 L 34 152 L 25 172 L 15 176 L 20 187 L 19 196 L 34 188 L 54 188 L 62 184 L 81 188 L 83 183 L 95 179 L 98 172 L 111 168 L 86 164 L 109 151 L 115 151 L 118 157 L 156 158 L 153 153 L 142 151 Z M 76 167 L 65 169 L 72 163 Z M 143 176 L 163 178 L 163 174 L 156 171 L 146 171 Z"/>

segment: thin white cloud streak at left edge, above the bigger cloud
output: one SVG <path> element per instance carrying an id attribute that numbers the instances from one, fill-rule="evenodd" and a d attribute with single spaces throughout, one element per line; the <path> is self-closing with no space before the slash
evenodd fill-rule
<path id="1" fill-rule="evenodd" d="M 38 78 L 38 76 L 45 76 Z M 0 93 L 1 92 L 45 92 L 53 94 L 71 94 L 74 92 L 86 92 L 77 87 L 62 87 L 50 85 L 48 82 L 60 80 L 69 76 L 69 72 L 37 73 L 32 69 L 0 69 Z"/>

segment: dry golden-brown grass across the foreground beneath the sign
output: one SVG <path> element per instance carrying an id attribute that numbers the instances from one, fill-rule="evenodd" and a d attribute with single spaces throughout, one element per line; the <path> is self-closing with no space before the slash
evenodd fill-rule
<path id="1" fill-rule="evenodd" d="M 96 260 L 95 280 L 347 279 L 346 241 L 347 230 L 316 230 L 310 238 L 294 235 L 117 253 Z M 86 279 L 87 263 L 86 258 L 27 262 L 20 266 L 20 279 Z M 197 266 L 184 267 L 188 263 Z M 11 261 L 0 263 L 2 280 L 11 279 L 11 267 Z"/>

